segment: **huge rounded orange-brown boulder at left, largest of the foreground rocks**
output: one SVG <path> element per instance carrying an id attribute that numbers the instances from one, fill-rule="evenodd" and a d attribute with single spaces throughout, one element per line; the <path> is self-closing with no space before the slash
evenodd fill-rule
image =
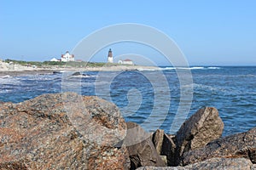
<path id="1" fill-rule="evenodd" d="M 97 97 L 44 94 L 0 105 L 0 169 L 129 169 L 119 109 Z"/>

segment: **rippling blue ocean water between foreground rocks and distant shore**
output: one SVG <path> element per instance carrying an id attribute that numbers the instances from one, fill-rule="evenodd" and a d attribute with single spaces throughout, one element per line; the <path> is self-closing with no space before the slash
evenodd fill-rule
<path id="1" fill-rule="evenodd" d="M 177 71 L 185 70 L 191 72 L 193 82 L 181 83 L 188 75 L 178 77 Z M 186 118 L 204 106 L 218 109 L 224 121 L 223 136 L 256 127 L 256 67 L 253 66 L 88 71 L 84 77 L 71 74 L 0 77 L 0 100 L 19 103 L 40 94 L 74 91 L 113 102 L 125 121 L 137 122 L 148 132 L 162 128 L 166 133 L 176 133 Z M 185 97 L 181 97 L 183 93 Z"/>

